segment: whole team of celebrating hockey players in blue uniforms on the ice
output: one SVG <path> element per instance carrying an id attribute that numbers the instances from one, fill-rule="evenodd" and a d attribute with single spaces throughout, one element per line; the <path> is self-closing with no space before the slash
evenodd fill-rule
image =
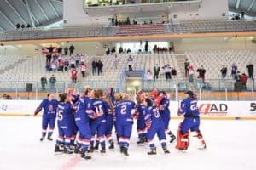
<path id="1" fill-rule="evenodd" d="M 183 99 L 181 107 L 177 111 L 179 116 L 184 116 L 177 132 L 178 150 L 187 150 L 189 147 L 189 131 L 195 132 L 201 140 L 201 149 L 206 148 L 199 126 L 200 116 L 196 105 L 196 95 L 192 91 L 186 92 L 187 99 Z M 175 135 L 168 128 L 170 122 L 169 101 L 166 92 L 154 90 L 150 95 L 138 92 L 137 103 L 132 101 L 131 94 L 119 94 L 113 92 L 113 88 L 106 93 L 101 89 L 86 88 L 84 95 L 75 94 L 73 89 L 59 95 L 59 101 L 53 94 L 48 94 L 36 109 L 36 116 L 44 109 L 42 122 L 43 141 L 46 137 L 47 127 L 49 132 L 47 139 L 51 138 L 55 128 L 55 119 L 59 130 L 55 144 L 55 153 L 81 154 L 84 159 L 91 159 L 90 152 L 99 150 L 106 153 L 106 141 L 108 149 L 113 150 L 113 127 L 120 153 L 129 156 L 128 149 L 132 132 L 133 120 L 137 120 L 137 144 L 147 144 L 150 148 L 148 155 L 155 155 L 156 146 L 154 136 L 157 135 L 165 154 L 167 149 L 166 134 L 170 137 L 170 143 L 176 140 Z"/>

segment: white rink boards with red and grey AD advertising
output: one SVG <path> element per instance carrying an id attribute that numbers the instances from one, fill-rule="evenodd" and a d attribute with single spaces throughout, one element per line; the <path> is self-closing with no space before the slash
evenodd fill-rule
<path id="1" fill-rule="evenodd" d="M 40 100 L 0 100 L 0 116 L 33 116 Z M 171 117 L 177 116 L 179 102 L 170 101 Z M 256 101 L 198 101 L 202 119 L 256 120 Z M 41 113 L 38 116 L 42 115 Z"/>

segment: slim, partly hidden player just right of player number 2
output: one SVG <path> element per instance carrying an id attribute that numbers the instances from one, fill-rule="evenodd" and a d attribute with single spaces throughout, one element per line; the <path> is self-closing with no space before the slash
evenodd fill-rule
<path id="1" fill-rule="evenodd" d="M 148 132 L 148 129 L 145 124 L 145 115 L 144 115 L 144 109 L 145 106 L 143 105 L 143 101 L 141 98 L 141 95 L 137 95 L 137 105 L 135 110 L 134 117 L 137 119 L 137 133 L 139 140 L 137 141 L 137 144 L 143 144 L 147 142 L 146 134 Z"/>

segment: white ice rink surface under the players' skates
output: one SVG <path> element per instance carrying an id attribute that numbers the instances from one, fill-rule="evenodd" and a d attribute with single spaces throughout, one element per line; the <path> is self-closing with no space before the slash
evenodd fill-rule
<path id="1" fill-rule="evenodd" d="M 171 120 L 170 127 L 177 133 L 180 121 Z M 91 154 L 86 161 L 79 155 L 55 156 L 55 140 L 40 142 L 41 117 L 0 116 L 0 170 L 255 170 L 256 122 L 254 121 L 201 121 L 201 133 L 207 150 L 198 150 L 198 140 L 191 137 L 189 150 L 182 152 L 169 144 L 171 154 L 166 156 L 158 140 L 157 155 L 148 156 L 148 145 L 137 146 L 136 127 L 133 128 L 130 156 L 120 156 L 119 148 Z M 55 128 L 54 139 L 57 135 Z M 168 138 L 169 139 L 169 138 Z"/>

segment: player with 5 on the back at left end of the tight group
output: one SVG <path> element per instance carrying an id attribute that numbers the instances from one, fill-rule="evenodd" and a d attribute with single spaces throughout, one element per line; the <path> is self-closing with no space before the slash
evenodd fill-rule
<path id="1" fill-rule="evenodd" d="M 72 105 L 67 98 L 67 94 L 60 94 L 60 103 L 57 109 L 57 124 L 59 129 L 59 136 L 56 139 L 55 152 L 61 152 L 61 144 L 64 144 L 64 153 L 72 154 L 70 149 L 70 140 L 73 135 L 73 115 Z"/>

